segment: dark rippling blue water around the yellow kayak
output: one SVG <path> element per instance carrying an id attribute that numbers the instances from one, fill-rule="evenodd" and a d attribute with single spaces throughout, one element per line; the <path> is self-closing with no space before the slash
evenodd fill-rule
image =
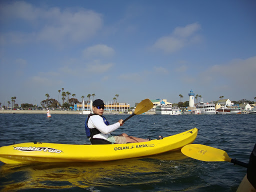
<path id="1" fill-rule="evenodd" d="M 128 115 L 105 115 L 110 123 Z M 89 143 L 86 115 L 0 114 L 0 146 L 13 142 Z M 256 115 L 135 115 L 113 132 L 147 138 L 197 127 L 194 143 L 225 150 L 248 162 L 256 141 Z M 86 152 L 86 151 L 84 151 Z M 230 162 L 204 162 L 180 150 L 108 162 L 0 162 L 1 191 L 236 191 L 246 168 Z"/>

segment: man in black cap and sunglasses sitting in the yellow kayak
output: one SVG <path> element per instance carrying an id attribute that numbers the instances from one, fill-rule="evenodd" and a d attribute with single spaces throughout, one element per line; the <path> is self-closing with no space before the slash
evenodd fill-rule
<path id="1" fill-rule="evenodd" d="M 90 138 L 92 144 L 123 144 L 127 142 L 145 142 L 147 139 L 129 136 L 122 133 L 118 136 L 113 136 L 110 132 L 116 130 L 123 125 L 123 120 L 119 119 L 114 124 L 109 124 L 104 116 L 104 102 L 101 99 L 96 99 L 92 102 L 93 113 L 89 114 L 85 121 L 85 131 L 87 137 Z"/>

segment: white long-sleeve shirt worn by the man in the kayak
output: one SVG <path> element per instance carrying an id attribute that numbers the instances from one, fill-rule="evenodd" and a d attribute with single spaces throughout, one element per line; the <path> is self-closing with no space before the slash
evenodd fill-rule
<path id="1" fill-rule="evenodd" d="M 96 128 L 101 132 L 99 134 L 93 135 L 93 138 L 107 139 L 109 136 L 111 136 L 110 132 L 119 128 L 119 126 L 119 122 L 116 122 L 111 125 L 106 125 L 103 121 L 103 118 L 100 115 L 92 115 L 89 117 L 88 120 L 88 128 Z"/>

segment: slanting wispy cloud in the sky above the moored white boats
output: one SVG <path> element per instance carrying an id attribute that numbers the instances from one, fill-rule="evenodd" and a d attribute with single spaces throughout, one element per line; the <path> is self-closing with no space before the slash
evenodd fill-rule
<path id="1" fill-rule="evenodd" d="M 184 46 L 200 41 L 196 32 L 200 29 L 198 23 L 188 24 L 184 27 L 176 27 L 168 36 L 158 38 L 153 44 L 153 49 L 160 49 L 166 53 L 177 51 Z"/>

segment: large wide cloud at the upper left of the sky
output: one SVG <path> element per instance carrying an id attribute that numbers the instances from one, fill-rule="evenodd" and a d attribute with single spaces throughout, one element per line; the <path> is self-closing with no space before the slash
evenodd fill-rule
<path id="1" fill-rule="evenodd" d="M 12 20 L 26 26 L 16 33 L 11 32 L 11 28 L 1 33 L 1 42 L 12 43 L 80 43 L 95 35 L 102 26 L 101 14 L 92 10 L 37 8 L 23 1 L 0 6 L 0 17 L 5 19 L 1 19 L 3 24 Z"/>

